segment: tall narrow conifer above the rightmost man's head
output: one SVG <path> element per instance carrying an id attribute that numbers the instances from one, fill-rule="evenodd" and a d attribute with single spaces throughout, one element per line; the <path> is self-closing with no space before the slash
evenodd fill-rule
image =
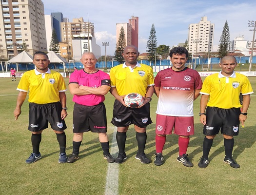
<path id="1" fill-rule="evenodd" d="M 222 58 L 228 54 L 229 46 L 230 46 L 230 32 L 228 27 L 228 21 L 226 20 L 222 30 L 222 34 L 220 36 L 219 44 L 218 44 L 219 58 Z"/>

